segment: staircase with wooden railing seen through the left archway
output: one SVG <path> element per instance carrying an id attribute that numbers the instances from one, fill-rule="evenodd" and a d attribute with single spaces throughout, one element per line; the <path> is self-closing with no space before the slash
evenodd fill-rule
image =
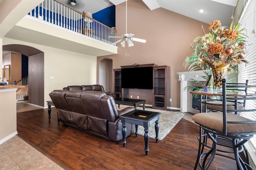
<path id="1" fill-rule="evenodd" d="M 28 76 L 16 82 L 16 85 L 25 86 L 22 88 L 18 88 L 16 92 L 16 102 L 18 103 L 18 102 L 28 101 Z"/>

